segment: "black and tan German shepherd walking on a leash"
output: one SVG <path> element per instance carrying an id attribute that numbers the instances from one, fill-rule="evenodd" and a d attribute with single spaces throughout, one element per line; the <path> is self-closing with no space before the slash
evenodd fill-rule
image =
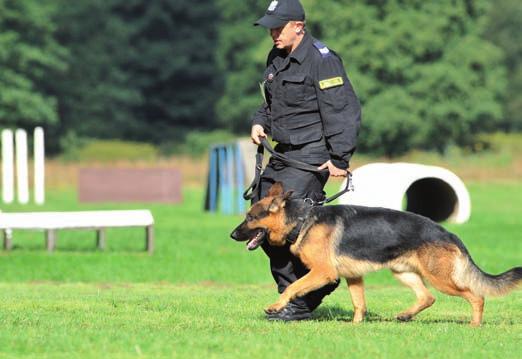
<path id="1" fill-rule="evenodd" d="M 417 297 L 398 320 L 409 321 L 435 302 L 425 279 L 443 293 L 466 299 L 472 307 L 470 324 L 479 326 L 484 297 L 507 294 L 522 283 L 522 267 L 499 275 L 483 272 L 456 235 L 425 217 L 385 208 L 314 207 L 290 196 L 275 183 L 231 234 L 236 241 L 248 241 L 249 250 L 265 238 L 272 246 L 290 241 L 290 251 L 310 269 L 266 313 L 276 313 L 292 299 L 344 277 L 354 306 L 353 322 L 359 323 L 366 313 L 363 276 L 388 268 Z"/>

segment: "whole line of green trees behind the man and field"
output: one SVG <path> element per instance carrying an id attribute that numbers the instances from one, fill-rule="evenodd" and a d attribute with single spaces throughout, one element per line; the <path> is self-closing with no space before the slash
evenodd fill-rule
<path id="1" fill-rule="evenodd" d="M 522 129 L 517 0 L 303 0 L 363 105 L 360 149 L 473 148 Z M 271 40 L 268 1 L 0 0 L 0 127 L 168 145 L 246 135 Z"/>

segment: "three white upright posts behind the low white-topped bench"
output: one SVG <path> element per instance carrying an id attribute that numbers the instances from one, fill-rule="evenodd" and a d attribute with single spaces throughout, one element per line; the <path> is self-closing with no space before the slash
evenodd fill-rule
<path id="1" fill-rule="evenodd" d="M 45 150 L 44 131 L 34 130 L 34 200 L 37 204 L 45 202 Z M 21 204 L 29 203 L 29 151 L 27 132 L 22 129 L 2 131 L 2 200 L 5 204 L 15 199 L 15 160 L 16 195 Z"/>

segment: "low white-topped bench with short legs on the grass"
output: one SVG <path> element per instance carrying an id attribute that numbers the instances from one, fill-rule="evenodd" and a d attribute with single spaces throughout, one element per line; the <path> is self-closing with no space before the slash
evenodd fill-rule
<path id="1" fill-rule="evenodd" d="M 105 248 L 105 229 L 145 227 L 145 249 L 154 251 L 154 218 L 149 210 L 83 211 L 83 212 L 0 212 L 0 230 L 4 232 L 4 249 L 12 248 L 12 231 L 19 229 L 45 231 L 46 247 L 53 251 L 56 232 L 62 229 L 96 230 L 99 249 Z"/>

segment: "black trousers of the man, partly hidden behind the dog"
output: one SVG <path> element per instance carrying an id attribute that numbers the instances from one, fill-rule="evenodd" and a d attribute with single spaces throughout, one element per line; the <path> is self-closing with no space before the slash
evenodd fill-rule
<path id="1" fill-rule="evenodd" d="M 267 195 L 268 189 L 272 184 L 282 182 L 285 191 L 294 191 L 292 198 L 311 198 L 314 201 L 322 200 L 325 196 L 323 188 L 328 177 L 328 173 L 307 172 L 293 167 L 286 167 L 277 161 L 271 160 L 261 176 L 260 196 L 258 199 Z M 308 269 L 303 263 L 290 252 L 289 244 L 283 247 L 274 247 L 265 241 L 262 248 L 270 258 L 270 270 L 277 283 L 279 293 L 283 293 L 286 287 L 308 273 Z M 321 304 L 322 299 L 337 288 L 338 285 L 339 282 L 326 285 L 308 293 L 304 297 L 294 299 L 293 302 L 314 310 Z"/>

